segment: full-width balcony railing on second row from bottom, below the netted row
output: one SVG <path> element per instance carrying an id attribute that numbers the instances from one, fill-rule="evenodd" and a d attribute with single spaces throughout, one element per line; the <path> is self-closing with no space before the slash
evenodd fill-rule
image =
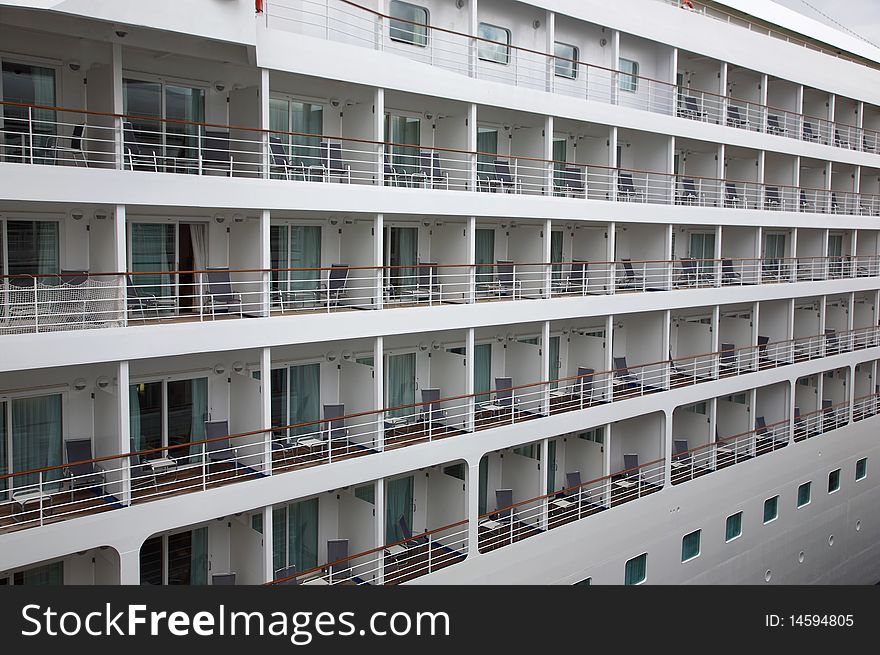
<path id="1" fill-rule="evenodd" d="M 624 361 L 607 371 L 15 471 L 0 475 L 0 534 L 876 347 L 880 327 Z M 862 418 L 869 410 L 859 406 Z"/>

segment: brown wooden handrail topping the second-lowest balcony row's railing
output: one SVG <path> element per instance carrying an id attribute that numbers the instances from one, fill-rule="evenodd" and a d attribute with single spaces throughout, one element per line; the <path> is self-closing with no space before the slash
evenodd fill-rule
<path id="1" fill-rule="evenodd" d="M 842 337 L 845 337 L 846 335 L 856 334 L 858 332 L 869 332 L 869 331 L 877 331 L 877 330 L 880 330 L 880 328 L 870 326 L 870 327 L 866 327 L 866 328 L 858 328 L 858 329 L 849 330 L 849 331 L 845 331 L 845 332 L 837 332 L 834 334 L 834 336 L 836 336 L 837 338 L 842 338 Z M 250 430 L 247 432 L 239 432 L 239 433 L 223 435 L 223 436 L 219 436 L 219 437 L 212 437 L 210 439 L 201 439 L 198 441 L 191 441 L 191 442 L 186 442 L 186 443 L 181 443 L 181 444 L 160 446 L 160 447 L 156 447 L 156 448 L 147 448 L 147 449 L 142 449 L 142 450 L 131 451 L 128 453 L 117 454 L 117 455 L 104 455 L 102 457 L 95 457 L 95 458 L 87 459 L 87 460 L 80 460 L 80 461 L 76 461 L 76 462 L 67 462 L 65 464 L 56 464 L 53 466 L 47 466 L 47 467 L 38 468 L 38 469 L 30 469 L 27 471 L 16 471 L 13 473 L 7 473 L 4 475 L 0 475 L 0 480 L 5 480 L 7 478 L 13 478 L 13 477 L 21 476 L 21 475 L 28 475 L 28 474 L 32 474 L 32 473 L 42 473 L 42 472 L 46 472 L 46 471 L 60 470 L 60 469 L 69 468 L 70 466 L 77 466 L 77 465 L 81 465 L 81 464 L 90 464 L 90 463 L 97 464 L 100 462 L 106 462 L 106 461 L 110 461 L 110 460 L 114 460 L 114 459 L 125 459 L 127 457 L 154 454 L 154 453 L 159 453 L 159 452 L 168 451 L 168 450 L 174 450 L 174 449 L 178 449 L 178 448 L 189 448 L 190 446 L 199 446 L 199 445 L 203 445 L 203 444 L 207 444 L 207 443 L 224 441 L 227 439 L 237 439 L 237 438 L 241 438 L 241 437 L 254 436 L 254 435 L 258 435 L 258 434 L 265 434 L 267 432 L 276 432 L 276 431 L 281 431 L 281 430 L 292 430 L 292 429 L 298 429 L 298 428 L 304 428 L 304 427 L 315 427 L 315 426 L 320 426 L 324 423 L 330 423 L 332 421 L 344 421 L 347 419 L 360 418 L 360 417 L 364 417 L 364 416 L 371 416 L 371 415 L 378 416 L 378 415 L 387 414 L 387 413 L 390 413 L 393 411 L 399 411 L 399 410 L 404 410 L 404 409 L 415 409 L 415 408 L 425 407 L 425 406 L 429 406 L 429 405 L 438 405 L 441 403 L 451 402 L 454 400 L 464 400 L 464 399 L 470 399 L 470 398 L 477 398 L 479 396 L 496 394 L 499 391 L 513 392 L 513 391 L 518 391 L 518 390 L 523 390 L 523 389 L 530 389 L 533 387 L 548 386 L 553 383 L 570 382 L 573 380 L 584 380 L 586 378 L 607 376 L 609 374 L 614 374 L 614 373 L 617 373 L 617 372 L 620 372 L 623 370 L 626 370 L 626 371 L 629 371 L 630 369 L 638 370 L 640 368 L 646 368 L 649 366 L 661 366 L 661 365 L 666 365 L 666 364 L 670 364 L 673 362 L 685 362 L 685 361 L 697 359 L 700 357 L 713 357 L 716 355 L 720 356 L 722 354 L 729 354 L 731 352 L 740 352 L 740 351 L 746 351 L 746 350 L 754 351 L 757 349 L 767 348 L 767 347 L 774 346 L 774 345 L 789 344 L 789 343 L 794 344 L 799 341 L 809 341 L 809 340 L 813 340 L 813 339 L 822 340 L 822 339 L 825 339 L 826 336 L 827 335 L 825 335 L 825 334 L 813 335 L 813 336 L 809 336 L 809 337 L 799 337 L 797 339 L 790 339 L 790 340 L 785 340 L 785 341 L 768 342 L 767 344 L 760 345 L 760 346 L 759 345 L 750 345 L 750 346 L 743 346 L 741 348 L 736 348 L 734 350 L 728 350 L 728 351 L 720 351 L 719 350 L 719 351 L 703 353 L 703 354 L 687 355 L 685 357 L 677 357 L 675 359 L 664 359 L 664 360 L 659 360 L 659 361 L 650 362 L 650 363 L 627 365 L 626 369 L 621 368 L 621 369 L 610 369 L 607 371 L 595 371 L 593 373 L 587 373 L 585 375 L 572 375 L 572 376 L 558 378 L 555 380 L 542 380 L 539 382 L 531 382 L 528 384 L 505 387 L 503 389 L 489 389 L 486 391 L 480 391 L 480 392 L 476 392 L 476 393 L 472 393 L 472 394 L 460 394 L 457 396 L 449 396 L 449 397 L 440 398 L 437 400 L 428 400 L 428 401 L 409 403 L 409 404 L 400 405 L 397 407 L 371 409 L 371 410 L 366 410 L 366 411 L 362 411 L 362 412 L 346 414 L 344 416 L 337 416 L 334 418 L 317 419 L 314 421 L 305 421 L 303 423 L 296 423 L 296 424 L 291 424 L 291 425 L 277 425 L 277 426 L 271 426 L 268 428 L 260 428 L 257 430 Z M 318 427 L 318 429 L 320 429 L 320 427 Z"/>

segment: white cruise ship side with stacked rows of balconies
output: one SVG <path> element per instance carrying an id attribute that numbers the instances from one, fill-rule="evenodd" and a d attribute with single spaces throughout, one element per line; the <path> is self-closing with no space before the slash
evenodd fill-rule
<path id="1" fill-rule="evenodd" d="M 0 584 L 880 580 L 880 50 L 693 4 L 0 2 Z"/>

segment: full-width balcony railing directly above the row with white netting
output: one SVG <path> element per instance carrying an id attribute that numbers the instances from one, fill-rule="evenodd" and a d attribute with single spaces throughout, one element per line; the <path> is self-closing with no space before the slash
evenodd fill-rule
<path id="1" fill-rule="evenodd" d="M 0 162 L 7 163 L 880 216 L 877 194 L 0 102 L 3 106 L 27 110 L 26 118 L 0 124 Z M 75 120 L 60 120 L 58 114 Z M 154 127 L 138 123 L 135 129 L 132 119 Z"/>

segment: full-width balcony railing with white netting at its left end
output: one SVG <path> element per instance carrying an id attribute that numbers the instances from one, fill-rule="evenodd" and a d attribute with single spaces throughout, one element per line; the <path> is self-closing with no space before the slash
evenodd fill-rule
<path id="1" fill-rule="evenodd" d="M 6 275 L 0 335 L 878 275 L 877 255 Z"/>

